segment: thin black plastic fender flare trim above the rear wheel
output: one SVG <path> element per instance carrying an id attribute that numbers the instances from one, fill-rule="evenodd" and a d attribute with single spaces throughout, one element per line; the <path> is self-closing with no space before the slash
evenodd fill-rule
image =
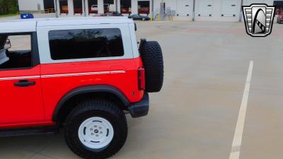
<path id="1" fill-rule="evenodd" d="M 120 100 L 124 103 L 125 106 L 128 106 L 130 104 L 129 100 L 127 100 L 127 97 L 124 95 L 124 93 L 121 92 L 121 90 L 108 85 L 95 85 L 95 86 L 81 86 L 79 88 L 74 88 L 73 90 L 70 90 L 66 95 L 64 95 L 61 100 L 57 103 L 57 106 L 54 110 L 52 121 L 57 122 L 57 119 L 59 117 L 59 112 L 63 108 L 64 103 L 67 102 L 69 99 L 73 98 L 76 95 L 84 94 L 84 93 L 111 93 L 113 95 L 116 95 Z"/>

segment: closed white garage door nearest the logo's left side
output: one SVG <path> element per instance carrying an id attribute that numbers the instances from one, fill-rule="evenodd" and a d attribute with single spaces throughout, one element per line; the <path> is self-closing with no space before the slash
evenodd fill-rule
<path id="1" fill-rule="evenodd" d="M 221 16 L 236 16 L 238 8 L 237 0 L 222 0 Z"/>

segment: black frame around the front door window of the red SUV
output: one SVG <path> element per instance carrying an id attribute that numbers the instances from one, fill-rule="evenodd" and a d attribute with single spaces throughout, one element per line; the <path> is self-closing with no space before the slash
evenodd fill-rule
<path id="1" fill-rule="evenodd" d="M 0 71 L 13 71 L 13 70 L 25 70 L 33 69 L 35 66 L 40 64 L 40 54 L 37 44 L 37 33 L 36 32 L 23 32 L 23 33 L 1 33 L 8 36 L 16 35 L 30 35 L 30 45 L 31 45 L 31 66 L 29 67 L 18 67 L 10 69 L 0 69 Z"/>

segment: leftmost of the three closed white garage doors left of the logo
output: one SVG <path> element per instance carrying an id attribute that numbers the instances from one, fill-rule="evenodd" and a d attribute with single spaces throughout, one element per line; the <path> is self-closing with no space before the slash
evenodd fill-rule
<path id="1" fill-rule="evenodd" d="M 192 0 L 177 0 L 177 14 L 178 16 L 192 15 Z"/>

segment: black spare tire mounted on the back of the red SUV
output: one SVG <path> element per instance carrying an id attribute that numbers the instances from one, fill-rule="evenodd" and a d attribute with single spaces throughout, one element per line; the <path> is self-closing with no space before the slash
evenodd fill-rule
<path id="1" fill-rule="evenodd" d="M 158 42 L 141 40 L 141 59 L 144 63 L 148 93 L 159 92 L 163 86 L 164 66 L 162 50 Z"/>

